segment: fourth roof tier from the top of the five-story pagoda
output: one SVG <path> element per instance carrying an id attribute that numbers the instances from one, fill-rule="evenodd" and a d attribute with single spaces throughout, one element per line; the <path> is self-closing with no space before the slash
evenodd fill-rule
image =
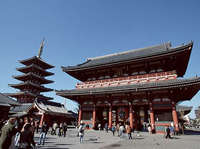
<path id="1" fill-rule="evenodd" d="M 20 83 L 20 84 L 9 84 L 9 86 L 11 86 L 13 88 L 20 89 L 20 90 L 23 90 L 23 89 L 37 89 L 39 92 L 53 91 L 53 89 L 37 85 L 37 84 L 35 84 L 33 82 L 30 82 L 30 81 L 23 82 L 23 83 Z"/>

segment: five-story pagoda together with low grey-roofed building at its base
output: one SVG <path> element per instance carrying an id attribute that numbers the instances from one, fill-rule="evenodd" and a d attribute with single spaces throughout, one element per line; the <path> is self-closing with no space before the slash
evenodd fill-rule
<path id="1" fill-rule="evenodd" d="M 44 42 L 44 41 L 43 41 Z M 19 61 L 24 67 L 17 68 L 22 75 L 13 76 L 22 81 L 19 84 L 9 84 L 9 86 L 19 89 L 17 93 L 7 93 L 8 96 L 16 98 L 22 103 L 18 107 L 11 108 L 10 114 L 17 117 L 34 116 L 40 125 L 43 121 L 52 125 L 53 122 L 71 121 L 75 118 L 65 109 L 64 105 L 51 101 L 53 98 L 46 97 L 41 93 L 53 91 L 53 89 L 44 87 L 44 84 L 53 83 L 45 77 L 52 76 L 54 73 L 47 71 L 54 66 L 46 63 L 42 58 L 44 43 L 41 43 L 38 56 L 34 56 Z"/>

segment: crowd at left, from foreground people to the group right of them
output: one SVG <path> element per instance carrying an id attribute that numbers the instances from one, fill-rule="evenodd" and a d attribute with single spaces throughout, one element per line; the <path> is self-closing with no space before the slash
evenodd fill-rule
<path id="1" fill-rule="evenodd" d="M 49 126 L 45 121 L 39 125 L 39 121 L 33 118 L 11 117 L 1 122 L 0 149 L 32 149 L 36 145 L 44 145 Z M 66 137 L 67 124 L 54 123 L 51 127 L 51 135 Z M 39 134 L 39 140 L 34 141 L 34 134 Z"/>

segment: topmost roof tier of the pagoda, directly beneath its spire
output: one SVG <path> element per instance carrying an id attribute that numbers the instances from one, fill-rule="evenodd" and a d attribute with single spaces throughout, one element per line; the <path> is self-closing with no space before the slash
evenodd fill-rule
<path id="1" fill-rule="evenodd" d="M 25 59 L 25 60 L 20 60 L 19 62 L 26 65 L 26 66 L 29 66 L 31 64 L 35 64 L 35 65 L 40 66 L 43 69 L 54 68 L 54 66 L 46 63 L 45 61 L 43 61 L 41 58 L 39 58 L 37 56 L 31 57 L 31 58 L 28 58 L 28 59 Z"/>

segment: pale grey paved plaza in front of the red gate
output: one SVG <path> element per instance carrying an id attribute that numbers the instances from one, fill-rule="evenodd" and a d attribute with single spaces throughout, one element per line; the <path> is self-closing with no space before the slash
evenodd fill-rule
<path id="1" fill-rule="evenodd" d="M 200 149 L 200 132 L 188 133 L 175 136 L 173 139 L 165 139 L 161 134 L 148 134 L 139 132 L 133 134 L 133 140 L 112 136 L 112 133 L 105 131 L 85 131 L 84 142 L 79 143 L 76 129 L 69 129 L 66 138 L 47 135 L 46 144 L 40 145 L 40 149 Z M 35 135 L 37 142 L 39 135 Z"/>

